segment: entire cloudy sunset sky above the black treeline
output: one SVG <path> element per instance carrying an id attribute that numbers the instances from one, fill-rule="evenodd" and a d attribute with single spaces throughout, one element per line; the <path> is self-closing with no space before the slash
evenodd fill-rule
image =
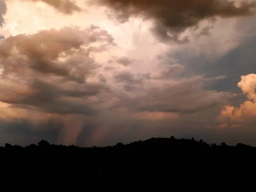
<path id="1" fill-rule="evenodd" d="M 0 145 L 256 146 L 256 1 L 0 0 Z"/>

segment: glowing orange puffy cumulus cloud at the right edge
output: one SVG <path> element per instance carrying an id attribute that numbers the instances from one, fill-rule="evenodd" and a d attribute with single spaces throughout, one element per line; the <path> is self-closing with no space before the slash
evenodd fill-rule
<path id="1" fill-rule="evenodd" d="M 221 111 L 217 120 L 229 125 L 241 125 L 255 120 L 256 117 L 256 74 L 241 76 L 241 81 L 237 84 L 241 88 L 248 101 L 240 104 L 239 107 L 227 105 Z"/>

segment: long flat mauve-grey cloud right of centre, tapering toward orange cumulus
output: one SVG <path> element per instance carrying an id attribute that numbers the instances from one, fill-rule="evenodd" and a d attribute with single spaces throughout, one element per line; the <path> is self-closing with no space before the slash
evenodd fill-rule
<path id="1" fill-rule="evenodd" d="M 230 92 L 204 90 L 200 76 L 169 82 L 162 86 L 142 89 L 137 97 L 122 95 L 116 106 L 125 105 L 131 111 L 196 113 L 203 109 L 224 105 L 233 97 Z"/>

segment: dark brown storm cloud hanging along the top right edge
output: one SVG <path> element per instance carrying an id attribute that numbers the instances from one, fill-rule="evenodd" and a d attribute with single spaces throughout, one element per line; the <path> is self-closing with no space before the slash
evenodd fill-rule
<path id="1" fill-rule="evenodd" d="M 120 22 L 130 17 L 141 16 L 153 19 L 152 29 L 161 40 L 186 43 L 187 37 L 180 39 L 180 33 L 189 27 L 196 27 L 205 19 L 229 18 L 252 15 L 256 2 L 241 2 L 235 6 L 228 0 L 92 0 L 93 4 L 107 6 Z"/>

